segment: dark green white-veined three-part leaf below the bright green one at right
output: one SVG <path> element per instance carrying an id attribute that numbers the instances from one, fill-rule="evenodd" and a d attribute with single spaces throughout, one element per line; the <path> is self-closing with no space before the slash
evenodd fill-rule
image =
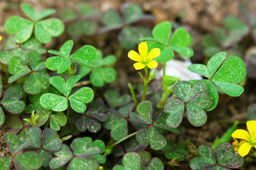
<path id="1" fill-rule="evenodd" d="M 187 81 L 178 82 L 174 86 L 174 93 L 177 97 L 170 97 L 165 103 L 165 112 L 170 113 L 166 125 L 176 128 L 183 119 L 183 112 L 186 109 L 187 118 L 194 126 L 202 126 L 207 115 L 205 109 L 210 108 L 212 102 L 206 93 L 206 84 L 197 81 L 192 85 Z"/>

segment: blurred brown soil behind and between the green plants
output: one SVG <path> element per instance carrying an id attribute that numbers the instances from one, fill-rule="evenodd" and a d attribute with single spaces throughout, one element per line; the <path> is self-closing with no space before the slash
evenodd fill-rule
<path id="1" fill-rule="evenodd" d="M 106 11 L 110 8 L 119 9 L 124 2 L 135 2 L 140 5 L 143 10 L 156 17 L 155 21 L 150 23 L 153 27 L 155 24 L 164 21 L 177 21 L 178 23 L 187 26 L 189 31 L 194 36 L 196 42 L 200 42 L 201 36 L 210 33 L 213 28 L 222 26 L 223 18 L 227 15 L 240 16 L 238 12 L 238 4 L 244 2 L 249 4 L 249 10 L 254 10 L 256 7 L 256 0 L 0 0 L 0 35 L 3 37 L 0 42 L 0 48 L 3 47 L 4 39 L 7 34 L 4 31 L 4 22 L 6 18 L 12 15 L 25 17 L 19 8 L 21 2 L 27 2 L 34 6 L 36 10 L 45 8 L 55 8 L 57 10 L 53 17 L 58 17 L 59 11 L 62 8 L 75 6 L 79 2 L 88 2 L 93 8 L 99 8 L 101 11 Z M 93 35 L 89 37 L 82 37 L 75 42 L 77 46 L 82 44 L 90 44 L 90 38 L 96 39 L 93 45 L 100 48 L 105 54 L 114 53 L 118 51 L 115 44 L 117 39 L 112 39 L 114 34 Z M 58 38 L 54 38 L 52 42 L 45 46 L 46 49 L 57 48 L 69 37 L 63 34 Z M 196 46 L 193 48 L 197 48 Z M 128 51 L 123 50 L 121 59 L 127 58 Z M 195 53 L 195 55 L 201 55 Z M 48 57 L 46 54 L 45 57 Z M 194 56 L 195 58 L 198 56 Z M 127 84 L 140 82 L 140 77 L 135 73 L 132 67 L 133 62 L 119 62 L 116 69 L 118 71 L 118 79 L 112 86 L 119 86 L 120 91 L 128 93 Z M 124 70 L 123 68 L 127 68 Z M 247 106 L 256 102 L 256 81 L 252 79 L 247 80 L 245 92 L 235 98 L 230 98 L 227 95 L 219 96 L 219 104 L 213 111 L 208 112 L 208 121 L 202 127 L 192 127 L 186 119 L 183 119 L 181 127 L 181 135 L 167 134 L 167 139 L 172 139 L 174 143 L 186 141 L 187 139 L 196 144 L 211 145 L 216 136 L 221 136 L 232 126 L 232 120 L 246 120 Z M 6 149 L 3 135 L 6 127 L 0 127 L 0 156 L 9 154 Z M 189 160 L 191 157 L 186 157 L 184 164 L 189 167 Z M 252 165 L 248 170 L 256 170 L 255 165 Z M 180 168 L 177 168 L 179 170 Z M 182 170 L 182 169 L 181 169 Z"/>

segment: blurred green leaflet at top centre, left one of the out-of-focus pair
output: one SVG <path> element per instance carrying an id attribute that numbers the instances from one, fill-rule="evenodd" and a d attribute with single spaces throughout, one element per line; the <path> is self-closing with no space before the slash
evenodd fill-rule
<path id="1" fill-rule="evenodd" d="M 114 9 L 109 9 L 103 14 L 102 23 L 111 27 L 121 27 L 123 25 L 121 17 Z"/>

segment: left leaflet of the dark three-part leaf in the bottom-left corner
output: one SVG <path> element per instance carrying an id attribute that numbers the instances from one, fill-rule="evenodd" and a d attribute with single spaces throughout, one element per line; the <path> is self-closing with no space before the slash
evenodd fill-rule
<path id="1" fill-rule="evenodd" d="M 15 134 L 7 133 L 4 136 L 5 143 L 12 153 L 18 153 L 21 150 L 25 149 L 27 146 L 32 144 L 32 141 L 24 141 L 21 143 L 18 136 Z"/>

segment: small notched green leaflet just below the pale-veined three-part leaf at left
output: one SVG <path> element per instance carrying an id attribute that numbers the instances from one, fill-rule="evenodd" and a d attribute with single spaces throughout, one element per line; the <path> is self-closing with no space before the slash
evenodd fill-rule
<path id="1" fill-rule="evenodd" d="M 64 114 L 52 114 L 50 119 L 50 127 L 55 131 L 60 130 L 60 126 L 66 124 L 67 118 Z"/>

